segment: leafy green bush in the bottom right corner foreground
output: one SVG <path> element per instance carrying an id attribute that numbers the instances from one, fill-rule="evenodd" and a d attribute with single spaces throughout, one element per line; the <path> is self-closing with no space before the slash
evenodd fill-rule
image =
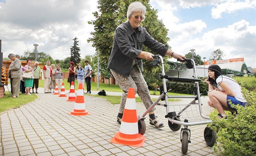
<path id="1" fill-rule="evenodd" d="M 236 116 L 227 112 L 228 120 L 211 114 L 208 126 L 218 131 L 217 143 L 213 146 L 218 156 L 256 156 L 256 92 L 242 87 L 248 106 L 235 106 Z"/>

